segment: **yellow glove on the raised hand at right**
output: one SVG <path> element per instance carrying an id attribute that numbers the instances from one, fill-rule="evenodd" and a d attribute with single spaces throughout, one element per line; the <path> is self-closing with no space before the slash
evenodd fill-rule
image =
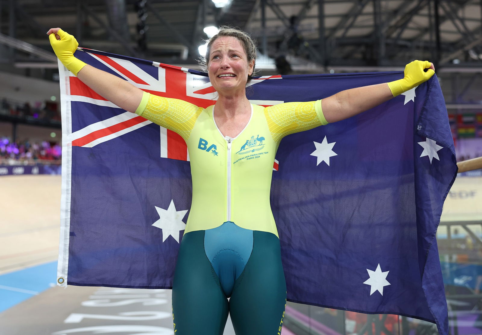
<path id="1" fill-rule="evenodd" d="M 427 72 L 425 72 L 424 69 L 428 69 Z M 388 87 L 394 97 L 407 90 L 413 89 L 415 86 L 427 81 L 435 74 L 435 71 L 430 68 L 430 62 L 428 61 L 413 61 L 405 65 L 405 70 L 403 72 L 405 75 L 403 79 L 388 83 Z"/>

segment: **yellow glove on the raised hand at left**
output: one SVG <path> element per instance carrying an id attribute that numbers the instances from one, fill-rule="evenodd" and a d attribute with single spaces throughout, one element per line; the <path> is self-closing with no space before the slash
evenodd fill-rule
<path id="1" fill-rule="evenodd" d="M 60 36 L 59 40 L 55 38 L 54 33 L 49 35 L 50 45 L 52 45 L 55 55 L 58 59 L 60 59 L 62 64 L 64 64 L 69 71 L 77 76 L 80 69 L 87 65 L 80 59 L 74 57 L 74 52 L 77 50 L 79 43 L 77 43 L 75 37 L 66 33 L 62 29 L 59 29 L 57 35 Z"/>

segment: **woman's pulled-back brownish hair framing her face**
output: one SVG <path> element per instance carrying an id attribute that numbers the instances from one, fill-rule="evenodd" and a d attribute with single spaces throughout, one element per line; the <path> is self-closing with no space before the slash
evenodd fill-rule
<path id="1" fill-rule="evenodd" d="M 234 28 L 230 26 L 220 26 L 218 33 L 214 35 L 212 38 L 207 40 L 208 45 L 206 49 L 206 55 L 202 56 L 199 59 L 199 65 L 201 66 L 201 69 L 205 72 L 208 72 L 209 54 L 211 53 L 211 46 L 213 45 L 216 39 L 223 36 L 235 37 L 239 39 L 243 46 L 244 52 L 246 53 L 248 64 L 254 60 L 253 73 L 251 75 L 248 75 L 246 84 L 249 83 L 255 74 L 254 67 L 256 66 L 256 55 L 257 55 L 256 44 L 254 40 L 251 38 L 251 36 L 249 36 L 248 33 L 238 28 Z"/>

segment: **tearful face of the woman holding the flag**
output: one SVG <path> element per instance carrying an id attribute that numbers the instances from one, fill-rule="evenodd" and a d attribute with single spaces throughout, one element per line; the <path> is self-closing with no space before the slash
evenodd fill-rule
<path id="1" fill-rule="evenodd" d="M 211 45 L 208 74 L 218 92 L 244 90 L 248 75 L 253 73 L 254 60 L 249 62 L 239 39 L 230 36 L 217 38 Z"/>

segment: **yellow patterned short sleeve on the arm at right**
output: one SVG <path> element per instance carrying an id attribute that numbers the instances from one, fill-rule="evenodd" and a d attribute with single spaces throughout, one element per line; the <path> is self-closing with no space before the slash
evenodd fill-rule
<path id="1" fill-rule="evenodd" d="M 269 106 L 265 108 L 265 116 L 275 142 L 286 135 L 328 124 L 321 110 L 321 100 Z"/>

